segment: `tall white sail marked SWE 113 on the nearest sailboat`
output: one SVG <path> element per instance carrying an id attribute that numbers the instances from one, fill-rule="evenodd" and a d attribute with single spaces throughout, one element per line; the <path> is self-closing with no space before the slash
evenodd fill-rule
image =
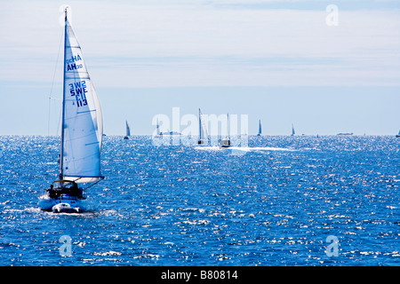
<path id="1" fill-rule="evenodd" d="M 60 178 L 77 183 L 95 182 L 101 177 L 102 114 L 67 12 L 63 96 Z"/>

